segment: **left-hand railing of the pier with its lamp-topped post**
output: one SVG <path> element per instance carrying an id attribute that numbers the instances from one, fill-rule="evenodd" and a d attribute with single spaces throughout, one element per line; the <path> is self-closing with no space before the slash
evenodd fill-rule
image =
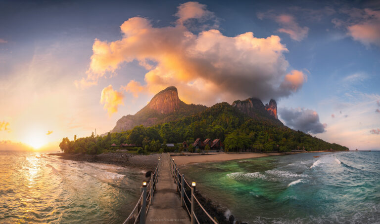
<path id="1" fill-rule="evenodd" d="M 150 174 L 149 183 L 146 184 L 144 181 L 142 183 L 141 196 L 139 201 L 136 203 L 135 208 L 132 210 L 131 214 L 124 221 L 123 224 L 145 224 L 145 218 L 149 211 L 149 206 L 153 205 L 154 190 L 158 182 L 158 176 L 161 172 L 161 161 L 162 156 L 158 158 L 158 163 L 154 172 Z M 148 193 L 146 193 L 148 190 Z"/>

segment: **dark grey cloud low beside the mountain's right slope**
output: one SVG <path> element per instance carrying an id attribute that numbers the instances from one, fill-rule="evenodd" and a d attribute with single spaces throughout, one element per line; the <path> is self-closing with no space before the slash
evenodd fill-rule
<path id="1" fill-rule="evenodd" d="M 305 133 L 318 134 L 325 132 L 327 124 L 319 121 L 317 112 L 304 108 L 280 108 L 279 114 L 285 124 L 294 130 Z"/>

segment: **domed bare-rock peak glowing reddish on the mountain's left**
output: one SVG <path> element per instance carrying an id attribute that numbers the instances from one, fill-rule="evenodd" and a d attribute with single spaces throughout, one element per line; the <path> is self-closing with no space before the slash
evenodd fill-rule
<path id="1" fill-rule="evenodd" d="M 186 104 L 178 97 L 177 88 L 174 86 L 157 93 L 150 102 L 135 115 L 126 115 L 116 122 L 116 126 L 111 132 L 121 132 L 131 130 L 135 126 L 153 126 L 158 123 L 193 115 L 205 110 L 203 105 Z"/>

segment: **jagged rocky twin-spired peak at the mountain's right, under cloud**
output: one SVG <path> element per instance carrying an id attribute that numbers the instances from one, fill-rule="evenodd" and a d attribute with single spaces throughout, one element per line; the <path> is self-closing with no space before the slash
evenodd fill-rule
<path id="1" fill-rule="evenodd" d="M 266 116 L 266 117 L 272 117 L 277 118 L 277 103 L 275 100 L 271 100 L 269 102 L 269 105 L 267 104 L 264 106 L 264 104 L 261 102 L 260 99 L 257 98 L 248 98 L 246 100 L 237 100 L 232 104 L 233 107 L 236 107 L 239 109 L 239 111 L 253 117 L 259 117 L 259 116 Z"/>

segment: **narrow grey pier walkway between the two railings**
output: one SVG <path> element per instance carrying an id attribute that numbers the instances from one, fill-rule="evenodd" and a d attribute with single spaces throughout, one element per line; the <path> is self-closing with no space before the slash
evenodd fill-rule
<path id="1" fill-rule="evenodd" d="M 153 205 L 149 207 L 146 224 L 190 224 L 190 218 L 181 207 L 181 198 L 169 168 L 169 155 L 162 156 L 161 173 L 158 177 Z"/>

